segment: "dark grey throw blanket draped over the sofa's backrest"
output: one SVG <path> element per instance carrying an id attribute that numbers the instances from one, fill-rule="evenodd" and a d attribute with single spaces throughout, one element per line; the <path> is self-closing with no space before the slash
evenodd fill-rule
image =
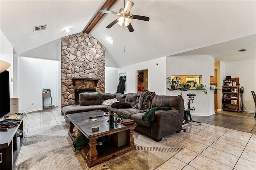
<path id="1" fill-rule="evenodd" d="M 148 111 L 149 109 L 152 109 L 152 99 L 156 95 L 155 92 L 145 91 L 142 93 L 139 93 L 137 95 L 136 105 L 134 105 L 133 109 L 140 109 L 140 113 Z"/>

